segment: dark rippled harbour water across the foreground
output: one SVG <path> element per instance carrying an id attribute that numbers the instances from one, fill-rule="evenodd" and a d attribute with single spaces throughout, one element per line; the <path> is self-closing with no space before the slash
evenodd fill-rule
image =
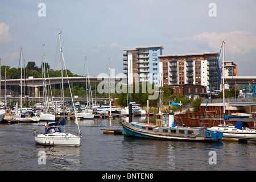
<path id="1" fill-rule="evenodd" d="M 137 118 L 140 120 L 140 118 Z M 33 127 L 44 123 L 0 125 L 0 170 L 251 170 L 256 169 L 256 142 L 172 142 L 104 134 L 102 128 L 118 128 L 120 118 L 79 121 L 80 147 L 41 146 L 35 143 Z M 119 127 L 121 128 L 121 127 Z M 39 164 L 40 151 L 46 164 Z M 216 164 L 209 164 L 216 152 Z M 213 160 L 211 160 L 213 161 Z"/>

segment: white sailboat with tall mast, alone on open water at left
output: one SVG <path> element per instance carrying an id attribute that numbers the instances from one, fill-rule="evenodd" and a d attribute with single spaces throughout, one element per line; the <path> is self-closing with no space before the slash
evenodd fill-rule
<path id="1" fill-rule="evenodd" d="M 59 44 L 60 44 L 60 61 L 61 61 L 61 82 L 62 82 L 62 97 L 63 97 L 63 105 L 64 105 L 64 84 L 63 84 L 63 63 L 65 65 L 64 57 L 63 57 L 63 51 L 61 48 L 61 41 L 60 41 L 60 34 L 59 33 Z M 63 59 L 63 60 L 62 60 Z M 66 71 L 67 73 L 67 71 Z M 69 81 L 68 81 L 69 85 Z M 69 85 L 69 90 L 71 91 L 70 85 Z M 72 100 L 72 105 L 75 108 L 75 104 L 73 102 L 73 97 L 71 94 L 71 100 Z M 63 107 L 64 110 L 64 107 Z M 49 146 L 80 146 L 80 140 L 81 140 L 81 132 L 79 129 L 79 123 L 77 122 L 77 115 L 75 112 L 75 123 L 77 125 L 77 129 L 79 133 L 77 135 L 68 133 L 61 128 L 61 125 L 65 126 L 65 112 L 63 111 L 63 119 L 61 122 L 57 123 L 50 123 L 49 127 L 45 133 L 43 134 L 38 134 L 36 135 L 35 129 L 34 130 L 34 135 L 35 136 L 35 141 L 38 144 L 43 144 L 43 145 L 49 145 Z"/>

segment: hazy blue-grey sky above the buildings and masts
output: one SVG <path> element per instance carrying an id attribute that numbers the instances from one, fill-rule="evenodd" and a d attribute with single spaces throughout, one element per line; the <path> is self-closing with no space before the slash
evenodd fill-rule
<path id="1" fill-rule="evenodd" d="M 41 6 L 44 3 L 45 6 Z M 216 6 L 209 6 L 214 3 Z M 40 6 L 39 6 L 40 5 Z M 123 49 L 163 46 L 163 55 L 220 52 L 238 76 L 256 76 L 255 0 L 0 0 L 1 65 L 46 60 L 60 69 L 59 32 L 67 69 L 89 75 L 123 73 Z M 214 16 L 212 16 L 214 15 Z"/>

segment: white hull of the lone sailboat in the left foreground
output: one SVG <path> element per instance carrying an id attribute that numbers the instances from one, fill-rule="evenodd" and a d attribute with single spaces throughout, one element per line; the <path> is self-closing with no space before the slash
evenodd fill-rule
<path id="1" fill-rule="evenodd" d="M 39 134 L 35 137 L 36 143 L 47 146 L 80 146 L 80 140 L 81 137 L 68 133 Z"/>

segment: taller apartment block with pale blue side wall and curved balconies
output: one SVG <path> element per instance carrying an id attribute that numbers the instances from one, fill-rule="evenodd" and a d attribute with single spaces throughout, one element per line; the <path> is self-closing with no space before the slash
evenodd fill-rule
<path id="1" fill-rule="evenodd" d="M 124 49 L 123 51 L 126 51 L 126 53 L 123 53 L 123 56 L 125 56 L 123 57 L 123 65 L 127 65 L 127 67 L 124 67 L 124 73 L 127 74 L 127 84 L 146 81 L 158 85 L 160 75 L 158 56 L 162 55 L 162 50 L 163 46 Z M 137 55 L 136 57 L 135 54 Z M 130 65 L 133 65 L 133 69 L 131 69 Z"/>

